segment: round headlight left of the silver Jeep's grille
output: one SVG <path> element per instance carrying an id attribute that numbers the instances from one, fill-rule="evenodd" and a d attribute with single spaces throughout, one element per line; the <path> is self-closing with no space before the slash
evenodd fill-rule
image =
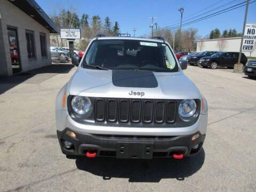
<path id="1" fill-rule="evenodd" d="M 75 96 L 72 98 L 71 107 L 79 115 L 87 117 L 92 113 L 92 102 L 87 97 Z"/>

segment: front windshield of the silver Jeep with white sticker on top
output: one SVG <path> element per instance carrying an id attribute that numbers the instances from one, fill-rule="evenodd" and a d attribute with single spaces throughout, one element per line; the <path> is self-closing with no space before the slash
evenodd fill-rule
<path id="1" fill-rule="evenodd" d="M 89 47 L 82 65 L 115 70 L 179 70 L 167 44 L 139 40 L 96 40 Z"/>

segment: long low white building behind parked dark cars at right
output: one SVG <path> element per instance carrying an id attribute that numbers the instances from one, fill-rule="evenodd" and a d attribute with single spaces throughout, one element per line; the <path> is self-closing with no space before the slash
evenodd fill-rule
<path id="1" fill-rule="evenodd" d="M 202 39 L 197 41 L 196 52 L 202 51 L 234 51 L 239 52 L 241 37 Z M 250 52 L 244 52 L 249 57 Z M 256 50 L 251 53 L 251 57 L 256 57 Z"/>

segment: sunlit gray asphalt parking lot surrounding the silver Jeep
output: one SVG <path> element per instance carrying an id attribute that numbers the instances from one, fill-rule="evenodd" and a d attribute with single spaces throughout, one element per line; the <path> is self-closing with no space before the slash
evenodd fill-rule
<path id="1" fill-rule="evenodd" d="M 204 148 L 185 159 L 67 159 L 55 97 L 75 72 L 53 65 L 0 79 L 0 191 L 255 191 L 256 81 L 188 66 L 209 103 Z"/>

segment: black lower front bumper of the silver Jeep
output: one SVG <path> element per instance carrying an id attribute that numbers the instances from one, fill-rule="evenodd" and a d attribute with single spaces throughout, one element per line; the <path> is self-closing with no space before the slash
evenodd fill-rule
<path id="1" fill-rule="evenodd" d="M 76 138 L 66 134 L 67 131 L 74 132 Z M 199 137 L 192 140 L 195 134 Z M 173 154 L 195 155 L 201 150 L 205 139 L 205 134 L 200 132 L 185 136 L 157 137 L 79 133 L 69 128 L 57 131 L 57 135 L 62 153 L 69 156 L 85 156 L 88 151 L 93 151 L 98 157 L 145 159 L 172 157 Z M 69 141 L 73 146 L 66 149 L 63 141 Z M 193 149 L 197 144 L 198 148 Z"/>

